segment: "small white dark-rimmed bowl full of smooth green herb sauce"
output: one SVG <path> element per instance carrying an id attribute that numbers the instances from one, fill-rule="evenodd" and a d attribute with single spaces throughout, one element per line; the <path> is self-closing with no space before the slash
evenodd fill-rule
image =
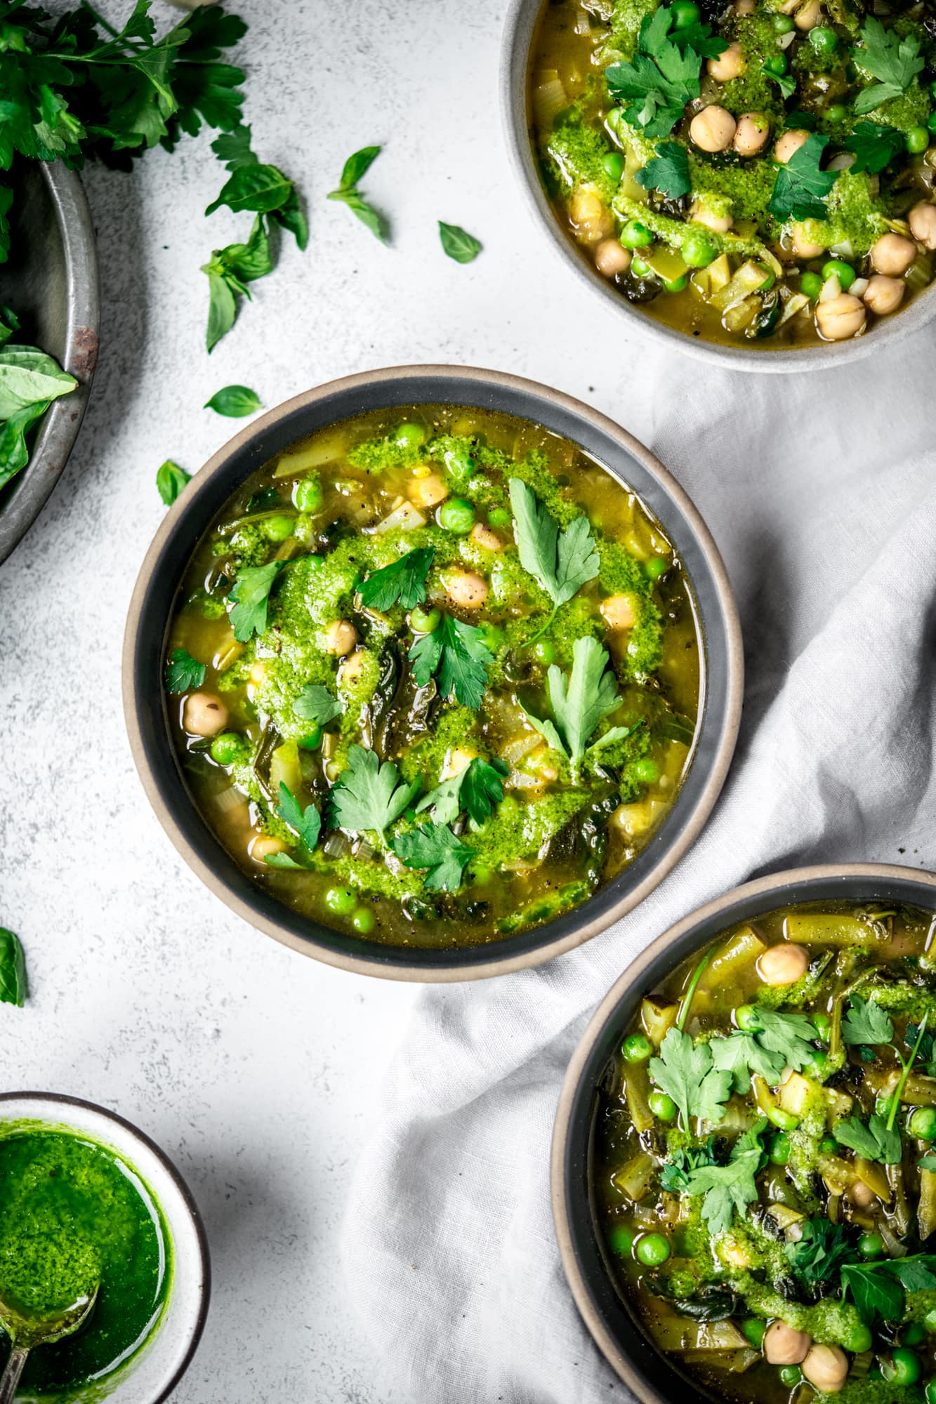
<path id="1" fill-rule="evenodd" d="M 0 1095 L 0 1300 L 87 1321 L 35 1346 L 17 1398 L 160 1404 L 208 1311 L 208 1247 L 176 1168 L 136 1127 L 51 1092 Z M 0 1369 L 10 1342 L 0 1331 Z"/>

